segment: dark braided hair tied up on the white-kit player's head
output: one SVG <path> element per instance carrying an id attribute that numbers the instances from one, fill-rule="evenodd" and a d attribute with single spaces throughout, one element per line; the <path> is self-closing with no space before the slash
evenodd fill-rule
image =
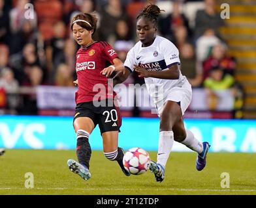
<path id="1" fill-rule="evenodd" d="M 150 1 L 148 2 L 150 3 Z M 144 10 L 140 12 L 140 14 L 138 14 L 136 19 L 138 20 L 142 17 L 145 17 L 152 21 L 154 25 L 157 25 L 157 18 L 159 17 L 161 12 L 165 12 L 165 10 L 160 10 L 157 5 L 152 5 L 152 3 L 150 3 L 150 5 L 146 6 Z"/>

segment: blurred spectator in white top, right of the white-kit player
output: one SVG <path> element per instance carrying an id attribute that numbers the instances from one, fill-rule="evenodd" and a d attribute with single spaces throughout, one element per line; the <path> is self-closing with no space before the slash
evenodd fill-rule
<path id="1" fill-rule="evenodd" d="M 221 40 L 217 38 L 214 30 L 210 28 L 206 29 L 195 44 L 197 61 L 202 63 L 206 60 L 210 56 L 212 47 L 220 43 Z"/>

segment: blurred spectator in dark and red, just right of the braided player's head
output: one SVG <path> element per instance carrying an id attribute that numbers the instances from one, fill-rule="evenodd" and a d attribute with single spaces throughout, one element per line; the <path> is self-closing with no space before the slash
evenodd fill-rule
<path id="1" fill-rule="evenodd" d="M 168 16 L 161 16 L 158 21 L 159 32 L 172 42 L 175 40 L 174 33 L 178 27 L 185 27 L 188 34 L 191 34 L 189 21 L 184 14 L 182 14 L 181 3 L 182 1 L 174 0 L 172 3 L 172 12 L 168 14 Z"/>

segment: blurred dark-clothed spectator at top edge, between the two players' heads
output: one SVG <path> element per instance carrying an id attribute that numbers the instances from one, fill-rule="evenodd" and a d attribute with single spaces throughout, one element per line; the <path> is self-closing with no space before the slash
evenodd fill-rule
<path id="1" fill-rule="evenodd" d="M 108 4 L 101 10 L 101 26 L 99 28 L 99 38 L 101 40 L 109 41 L 116 29 L 116 23 L 119 19 L 128 21 L 120 0 L 108 0 Z"/>

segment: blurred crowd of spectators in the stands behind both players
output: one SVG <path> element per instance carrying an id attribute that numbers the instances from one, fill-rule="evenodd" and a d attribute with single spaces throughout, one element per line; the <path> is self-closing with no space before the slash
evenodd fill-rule
<path id="1" fill-rule="evenodd" d="M 215 90 L 227 89 L 233 92 L 234 109 L 242 108 L 243 90 L 234 78 L 236 59 L 229 56 L 229 48 L 219 33 L 225 21 L 219 15 L 216 1 L 196 1 L 203 7 L 200 6 L 194 16 L 183 12 L 183 7 L 191 1 L 151 2 L 171 5 L 171 8 L 161 8 L 166 12 L 159 18 L 159 35 L 178 47 L 182 73 L 193 88 L 206 88 L 209 109 L 216 107 Z M 33 5 L 33 19 L 25 18 L 27 3 Z M 133 0 L 0 0 L 0 108 L 3 113 L 38 114 L 35 91 L 31 87 L 74 86 L 75 54 L 79 46 L 72 38 L 72 17 L 79 12 L 95 14 L 98 28 L 94 40 L 109 42 L 124 61 L 138 41 L 136 16 L 147 4 L 147 1 Z M 144 79 L 133 73 L 126 83 L 143 84 Z M 138 115 L 134 110 L 134 116 Z"/>

